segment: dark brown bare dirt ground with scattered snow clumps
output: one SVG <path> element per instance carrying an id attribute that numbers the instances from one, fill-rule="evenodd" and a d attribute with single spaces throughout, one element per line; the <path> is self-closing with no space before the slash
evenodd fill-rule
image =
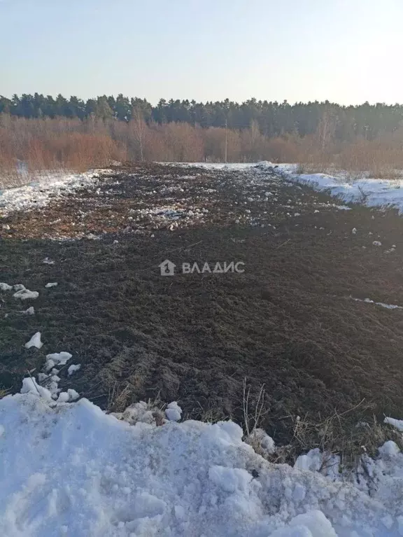
<path id="1" fill-rule="evenodd" d="M 297 416 L 403 417 L 403 309 L 351 298 L 403 306 L 403 219 L 339 205 L 259 168 L 128 165 L 3 218 L 0 281 L 39 297 L 0 291 L 0 384 L 69 351 L 82 367 L 60 386 L 108 410 L 158 396 L 242 422 L 246 379 L 281 443 Z M 162 277 L 167 258 L 245 270 Z"/>

